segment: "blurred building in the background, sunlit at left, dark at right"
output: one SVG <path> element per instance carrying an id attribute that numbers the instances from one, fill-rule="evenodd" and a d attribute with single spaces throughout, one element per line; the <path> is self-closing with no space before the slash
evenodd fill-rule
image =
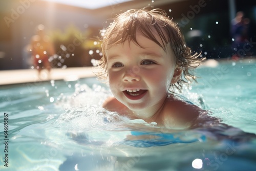
<path id="1" fill-rule="evenodd" d="M 75 1 L 70 1 L 75 2 Z M 0 2 L 0 70 L 29 68 L 26 46 L 44 24 L 50 30 L 65 29 L 73 24 L 80 30 L 91 28 L 97 36 L 121 10 L 154 6 L 167 12 L 179 23 L 185 39 L 194 51 L 207 58 L 231 56 L 230 22 L 237 11 L 250 18 L 250 50 L 255 55 L 256 1 L 249 0 L 102 0 L 82 1 L 84 6 L 56 3 L 53 0 L 13 0 Z M 102 2 L 105 2 L 103 4 Z M 248 49 L 248 48 L 246 48 Z"/>

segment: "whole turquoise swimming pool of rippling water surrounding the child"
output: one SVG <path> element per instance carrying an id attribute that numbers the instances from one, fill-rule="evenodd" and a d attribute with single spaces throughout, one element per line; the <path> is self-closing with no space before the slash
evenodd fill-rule
<path id="1" fill-rule="evenodd" d="M 223 124 L 186 131 L 103 110 L 110 94 L 95 78 L 1 86 L 0 169 L 255 170 L 256 62 L 210 66 L 196 70 L 201 79 L 182 95 Z"/>

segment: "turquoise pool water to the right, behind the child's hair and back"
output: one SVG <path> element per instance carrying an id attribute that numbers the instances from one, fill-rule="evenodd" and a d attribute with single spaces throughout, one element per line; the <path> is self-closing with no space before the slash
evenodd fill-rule
<path id="1" fill-rule="evenodd" d="M 207 109 L 223 122 L 256 133 L 255 60 L 223 61 L 215 68 L 201 67 L 201 78 L 190 92 L 203 96 Z M 218 112 L 219 111 L 219 112 Z"/>

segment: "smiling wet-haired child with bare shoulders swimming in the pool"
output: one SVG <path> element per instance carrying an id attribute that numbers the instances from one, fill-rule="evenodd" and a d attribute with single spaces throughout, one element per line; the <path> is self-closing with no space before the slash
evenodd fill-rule
<path id="1" fill-rule="evenodd" d="M 204 111 L 174 88 L 195 80 L 189 70 L 203 59 L 191 54 L 177 24 L 160 9 L 128 10 L 103 33 L 99 76 L 108 77 L 114 95 L 103 108 L 171 129 L 193 125 Z"/>

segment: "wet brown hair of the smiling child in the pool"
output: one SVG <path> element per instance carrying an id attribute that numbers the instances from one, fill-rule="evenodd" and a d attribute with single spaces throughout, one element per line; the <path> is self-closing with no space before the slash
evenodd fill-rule
<path id="1" fill-rule="evenodd" d="M 98 68 L 102 72 L 98 73 L 99 77 L 108 75 L 106 50 L 112 45 L 123 44 L 124 41 L 128 40 L 141 47 L 136 39 L 137 31 L 156 42 L 164 51 L 167 50 L 166 45 L 168 43 L 173 49 L 176 64 L 183 69 L 183 73 L 177 83 L 170 84 L 169 91 L 174 91 L 175 87 L 181 91 L 183 84 L 196 81 L 196 76 L 190 71 L 197 68 L 204 59 L 199 58 L 200 54 L 198 53 L 191 53 L 177 24 L 167 17 L 165 11 L 161 9 L 151 11 L 145 9 L 128 10 L 118 14 L 114 18 L 114 22 L 101 32 L 102 58 L 98 61 Z M 157 37 L 155 36 L 156 33 Z"/>

